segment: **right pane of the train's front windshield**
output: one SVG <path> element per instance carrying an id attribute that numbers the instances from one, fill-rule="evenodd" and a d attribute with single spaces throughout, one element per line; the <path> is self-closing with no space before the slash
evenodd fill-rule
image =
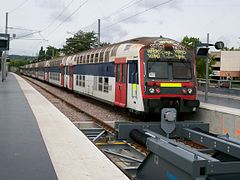
<path id="1" fill-rule="evenodd" d="M 191 79 L 192 78 L 191 63 L 186 63 L 186 62 L 173 63 L 173 78 L 174 79 Z"/>

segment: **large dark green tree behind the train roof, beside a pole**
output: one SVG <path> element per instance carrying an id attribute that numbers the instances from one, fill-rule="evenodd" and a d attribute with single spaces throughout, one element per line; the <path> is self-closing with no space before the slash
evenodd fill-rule
<path id="1" fill-rule="evenodd" d="M 110 43 L 103 42 L 100 46 L 105 46 Z M 63 46 L 63 53 L 65 55 L 75 54 L 86 51 L 98 46 L 98 39 L 95 32 L 80 31 L 73 37 L 67 38 L 66 45 Z"/>

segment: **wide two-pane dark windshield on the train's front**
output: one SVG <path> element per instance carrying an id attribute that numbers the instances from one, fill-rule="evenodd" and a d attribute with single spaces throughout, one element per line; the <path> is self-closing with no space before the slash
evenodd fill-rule
<path id="1" fill-rule="evenodd" d="M 150 79 L 191 79 L 190 62 L 148 61 L 147 74 Z"/>

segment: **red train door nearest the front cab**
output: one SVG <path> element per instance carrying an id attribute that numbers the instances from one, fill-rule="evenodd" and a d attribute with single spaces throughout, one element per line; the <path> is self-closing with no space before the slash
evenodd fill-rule
<path id="1" fill-rule="evenodd" d="M 115 102 L 120 107 L 126 107 L 127 102 L 127 64 L 126 58 L 115 59 Z"/>

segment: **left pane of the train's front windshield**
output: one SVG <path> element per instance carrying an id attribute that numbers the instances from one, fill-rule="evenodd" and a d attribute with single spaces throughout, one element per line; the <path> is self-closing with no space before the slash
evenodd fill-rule
<path id="1" fill-rule="evenodd" d="M 149 61 L 147 71 L 149 78 L 167 79 L 168 63 L 159 61 Z"/>

